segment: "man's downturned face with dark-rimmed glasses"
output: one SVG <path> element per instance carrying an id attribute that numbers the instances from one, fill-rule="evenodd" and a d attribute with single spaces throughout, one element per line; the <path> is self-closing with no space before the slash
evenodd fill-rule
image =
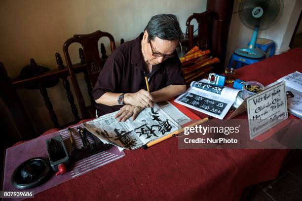
<path id="1" fill-rule="evenodd" d="M 148 33 L 145 31 L 142 46 L 145 53 L 145 59 L 151 65 L 157 65 L 171 58 L 178 44 L 178 40 L 162 40 L 155 37 L 153 40 L 148 39 Z"/>

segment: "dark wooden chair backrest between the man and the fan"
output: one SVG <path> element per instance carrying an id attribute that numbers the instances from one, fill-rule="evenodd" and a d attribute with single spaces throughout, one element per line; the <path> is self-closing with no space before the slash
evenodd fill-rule
<path id="1" fill-rule="evenodd" d="M 214 11 L 205 11 L 203 13 L 193 13 L 187 19 L 186 37 L 189 38 L 189 49 L 193 47 L 194 26 L 190 22 L 195 19 L 198 23 L 197 42 L 201 50 L 210 49 L 214 56 L 221 59 L 221 30 L 222 20 L 219 20 L 218 13 Z"/>

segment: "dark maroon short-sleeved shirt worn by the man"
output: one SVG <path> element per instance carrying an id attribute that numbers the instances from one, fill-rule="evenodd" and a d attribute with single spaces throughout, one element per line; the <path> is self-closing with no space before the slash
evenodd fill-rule
<path id="1" fill-rule="evenodd" d="M 144 77 L 146 66 L 141 52 L 142 38 L 143 33 L 136 39 L 120 45 L 109 56 L 93 88 L 94 100 L 106 92 L 135 93 L 141 89 L 147 90 Z M 185 84 L 181 62 L 176 56 L 153 65 L 148 78 L 151 92 L 169 85 Z M 121 107 L 122 105 L 96 104 L 99 116 L 119 110 Z"/>

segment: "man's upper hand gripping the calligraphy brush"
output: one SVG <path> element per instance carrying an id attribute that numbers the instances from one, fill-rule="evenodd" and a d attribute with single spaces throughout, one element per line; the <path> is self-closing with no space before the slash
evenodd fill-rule
<path id="1" fill-rule="evenodd" d="M 136 92 L 136 93 L 128 93 L 124 95 L 124 101 L 125 104 L 131 104 L 134 106 L 139 106 L 139 107 L 153 107 L 153 97 L 152 95 L 144 90 L 141 89 L 140 91 Z"/>

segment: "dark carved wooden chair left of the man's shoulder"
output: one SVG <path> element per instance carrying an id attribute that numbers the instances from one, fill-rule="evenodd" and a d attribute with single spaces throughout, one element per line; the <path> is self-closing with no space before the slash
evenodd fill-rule
<path id="1" fill-rule="evenodd" d="M 105 63 L 104 58 L 100 58 L 99 50 L 98 50 L 98 41 L 101 37 L 106 36 L 110 40 L 110 46 L 111 46 L 111 52 L 115 49 L 115 42 L 114 38 L 110 33 L 107 32 L 101 32 L 101 31 L 96 31 L 94 33 L 89 33 L 89 34 L 79 34 L 79 35 L 74 35 L 74 37 L 69 38 L 66 40 L 63 46 L 63 51 L 64 51 L 64 56 L 67 62 L 67 67 L 71 76 L 71 80 L 73 82 L 75 92 L 76 92 L 76 98 L 79 104 L 79 108 L 82 114 L 83 119 L 89 119 L 89 118 L 94 118 L 95 117 L 95 107 L 94 107 L 94 100 L 91 100 L 91 105 L 86 106 L 83 95 L 80 91 L 78 82 L 76 80 L 76 74 L 74 72 L 74 67 L 70 59 L 68 47 L 74 43 L 80 43 L 83 47 L 83 56 L 85 63 L 87 65 L 87 75 L 85 76 L 85 80 L 88 83 L 91 84 L 93 87 L 95 83 L 97 82 L 98 76 L 100 74 L 100 71 Z M 92 87 L 87 86 L 88 88 L 88 93 L 91 95 Z"/>

